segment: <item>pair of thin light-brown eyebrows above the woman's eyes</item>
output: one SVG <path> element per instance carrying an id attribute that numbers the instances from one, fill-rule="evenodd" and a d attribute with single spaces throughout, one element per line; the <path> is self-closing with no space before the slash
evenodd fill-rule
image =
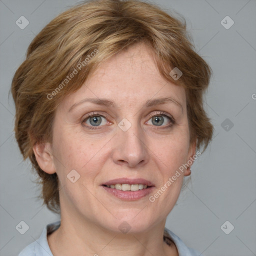
<path id="1" fill-rule="evenodd" d="M 98 104 L 98 105 L 105 105 L 107 107 L 116 107 L 116 105 L 115 105 L 115 103 L 113 101 L 105 99 L 105 98 L 85 98 L 85 99 L 82 99 L 82 100 L 74 103 L 68 109 L 68 112 L 70 112 L 77 105 L 80 105 L 80 104 L 82 104 L 84 102 L 91 102 L 91 103 Z M 145 102 L 145 106 L 146 107 L 150 107 L 150 106 L 154 106 L 154 105 L 165 104 L 165 103 L 168 103 L 168 102 L 172 102 L 172 103 L 176 104 L 177 106 L 179 106 L 181 108 L 182 113 L 183 113 L 183 106 L 182 106 L 182 104 L 178 100 L 173 98 L 173 97 L 159 97 L 159 98 L 148 99 Z"/>

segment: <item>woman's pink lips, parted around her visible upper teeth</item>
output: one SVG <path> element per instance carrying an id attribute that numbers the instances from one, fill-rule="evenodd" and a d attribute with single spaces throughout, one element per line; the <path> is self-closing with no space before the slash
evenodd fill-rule
<path id="1" fill-rule="evenodd" d="M 113 184 L 143 184 L 147 185 L 148 187 L 137 191 L 122 191 L 119 189 L 104 186 Z M 101 187 L 106 192 L 122 200 L 134 201 L 148 195 L 150 192 L 152 192 L 155 186 L 151 181 L 144 178 L 116 178 L 102 183 Z"/>

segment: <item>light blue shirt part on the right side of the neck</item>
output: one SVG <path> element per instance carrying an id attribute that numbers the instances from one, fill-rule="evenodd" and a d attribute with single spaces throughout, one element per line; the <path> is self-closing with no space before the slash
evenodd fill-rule
<path id="1" fill-rule="evenodd" d="M 199 251 L 187 247 L 184 242 L 168 228 L 164 228 L 164 233 L 167 233 L 170 236 L 171 240 L 175 243 L 179 256 L 203 256 Z"/>

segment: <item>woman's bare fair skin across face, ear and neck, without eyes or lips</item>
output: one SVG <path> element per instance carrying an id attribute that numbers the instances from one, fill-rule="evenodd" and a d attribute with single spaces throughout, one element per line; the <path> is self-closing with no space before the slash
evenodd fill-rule
<path id="1" fill-rule="evenodd" d="M 33 147 L 39 166 L 59 178 L 61 225 L 48 235 L 54 256 L 178 255 L 175 246 L 163 242 L 163 228 L 183 176 L 190 170 L 181 173 L 154 202 L 148 197 L 195 154 L 195 144 L 189 145 L 184 88 L 160 76 L 152 55 L 144 44 L 136 44 L 101 63 L 57 107 L 52 143 Z M 148 99 L 166 96 L 179 101 L 183 110 L 170 100 L 145 106 Z M 68 111 L 89 97 L 106 98 L 116 106 L 83 102 Z M 159 111 L 173 116 L 175 123 L 167 127 L 171 121 Z M 91 112 L 105 115 L 99 126 L 90 124 L 87 114 Z M 150 114 L 163 117 L 164 122 L 155 125 Z M 131 123 L 125 132 L 118 127 L 123 118 Z M 72 169 L 80 175 L 74 183 L 67 178 Z M 143 198 L 124 201 L 101 185 L 122 177 L 144 178 L 155 187 Z M 126 234 L 118 228 L 123 221 L 131 227 Z"/>

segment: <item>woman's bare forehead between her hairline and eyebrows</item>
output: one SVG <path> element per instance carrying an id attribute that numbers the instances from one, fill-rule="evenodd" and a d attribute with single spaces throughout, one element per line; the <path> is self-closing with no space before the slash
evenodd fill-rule
<path id="1" fill-rule="evenodd" d="M 108 98 L 119 106 L 130 107 L 166 96 L 185 106 L 184 88 L 167 82 L 160 75 L 153 52 L 146 45 L 134 44 L 102 62 L 64 103 L 68 106 L 84 97 L 94 97 Z"/>

